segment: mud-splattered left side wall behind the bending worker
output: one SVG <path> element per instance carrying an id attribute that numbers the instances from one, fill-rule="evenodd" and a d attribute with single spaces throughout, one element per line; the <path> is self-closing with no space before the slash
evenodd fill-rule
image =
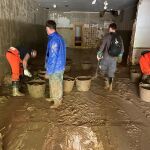
<path id="1" fill-rule="evenodd" d="M 10 46 L 41 48 L 46 11 L 33 0 L 0 0 L 0 82 L 10 71 L 5 52 Z"/>

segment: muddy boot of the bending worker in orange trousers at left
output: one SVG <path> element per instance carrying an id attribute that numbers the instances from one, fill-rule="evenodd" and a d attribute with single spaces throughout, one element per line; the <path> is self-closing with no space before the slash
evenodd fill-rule
<path id="1" fill-rule="evenodd" d="M 12 82 L 12 88 L 13 88 L 13 91 L 12 91 L 12 95 L 13 96 L 24 96 L 23 93 L 19 92 L 19 81 L 13 81 Z"/>

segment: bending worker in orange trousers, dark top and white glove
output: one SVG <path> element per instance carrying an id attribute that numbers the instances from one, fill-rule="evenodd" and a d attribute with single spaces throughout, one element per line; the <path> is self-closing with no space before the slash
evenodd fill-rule
<path id="1" fill-rule="evenodd" d="M 12 95 L 13 96 L 24 96 L 23 93 L 19 92 L 19 80 L 20 76 L 24 75 L 32 77 L 32 74 L 28 71 L 27 65 L 30 58 L 35 58 L 37 55 L 36 50 L 30 50 L 22 47 L 10 47 L 6 52 L 6 58 L 11 66 L 12 71 Z M 23 66 L 23 69 L 22 67 Z"/>

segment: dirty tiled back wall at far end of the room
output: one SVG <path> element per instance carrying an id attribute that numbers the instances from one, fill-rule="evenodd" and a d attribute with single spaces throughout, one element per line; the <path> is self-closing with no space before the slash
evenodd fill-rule
<path id="1" fill-rule="evenodd" d="M 107 27 L 110 22 L 114 21 L 118 25 L 118 30 L 123 38 L 125 53 L 123 58 L 123 64 L 126 64 L 132 34 L 133 22 L 136 15 L 136 6 L 129 6 L 124 9 L 120 16 L 113 17 L 110 14 L 105 14 L 103 17 L 100 17 L 100 13 L 98 12 L 53 12 L 49 11 L 48 19 L 54 19 L 57 22 L 58 32 L 64 37 L 67 47 L 69 48 L 77 48 L 75 46 L 75 26 L 82 25 L 82 36 L 83 36 L 83 44 L 78 48 L 89 48 L 93 49 L 91 45 L 95 45 L 94 48 L 98 48 L 104 34 L 107 31 Z M 100 29 L 89 29 L 88 31 L 86 26 L 98 25 L 97 27 Z M 94 33 L 95 32 L 95 33 Z M 86 38 L 84 40 L 84 38 Z M 95 42 L 93 42 L 95 41 Z M 98 41 L 98 42 L 97 42 Z M 90 43 L 85 44 L 85 43 Z M 86 46 L 85 46 L 86 45 Z M 73 53 L 73 55 L 77 55 L 75 50 L 70 50 L 69 53 Z M 95 56 L 93 60 L 95 59 Z"/>

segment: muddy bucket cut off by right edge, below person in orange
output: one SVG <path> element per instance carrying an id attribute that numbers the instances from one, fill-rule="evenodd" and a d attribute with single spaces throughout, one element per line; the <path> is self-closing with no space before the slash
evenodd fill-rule
<path id="1" fill-rule="evenodd" d="M 150 84 L 139 84 L 140 98 L 145 102 L 150 102 Z"/>

